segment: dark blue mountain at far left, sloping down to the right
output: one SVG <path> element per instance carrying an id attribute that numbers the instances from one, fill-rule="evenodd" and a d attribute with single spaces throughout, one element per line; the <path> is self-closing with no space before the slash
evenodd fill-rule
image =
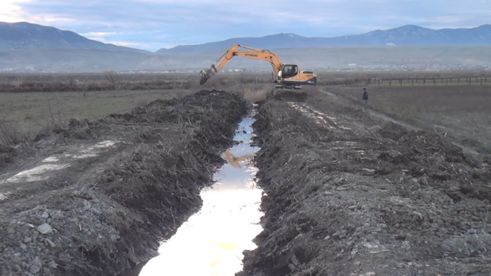
<path id="1" fill-rule="evenodd" d="M 46 48 L 72 48 L 107 51 L 143 51 L 135 48 L 104 44 L 70 31 L 28 22 L 0 22 L 0 50 L 25 50 Z M 148 53 L 148 52 L 147 52 Z"/>

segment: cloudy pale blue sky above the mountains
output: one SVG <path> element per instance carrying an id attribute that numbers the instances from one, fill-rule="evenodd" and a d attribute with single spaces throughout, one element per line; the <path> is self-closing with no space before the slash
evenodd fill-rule
<path id="1" fill-rule="evenodd" d="M 491 23 L 490 0 L 0 0 L 0 22 L 31 22 L 156 51 L 233 37 L 337 37 L 419 25 Z"/>

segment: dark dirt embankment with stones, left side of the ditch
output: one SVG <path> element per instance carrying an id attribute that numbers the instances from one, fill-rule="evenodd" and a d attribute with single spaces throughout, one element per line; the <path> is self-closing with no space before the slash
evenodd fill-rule
<path id="1" fill-rule="evenodd" d="M 156 256 L 247 109 L 201 91 L 39 138 L 2 170 L 0 275 L 119 275 Z"/>

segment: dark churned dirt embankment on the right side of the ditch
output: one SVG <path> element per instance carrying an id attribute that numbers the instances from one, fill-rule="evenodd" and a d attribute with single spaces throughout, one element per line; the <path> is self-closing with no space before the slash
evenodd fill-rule
<path id="1" fill-rule="evenodd" d="M 236 275 L 490 275 L 489 164 L 335 105 L 267 101 L 254 128 L 264 231 Z"/>

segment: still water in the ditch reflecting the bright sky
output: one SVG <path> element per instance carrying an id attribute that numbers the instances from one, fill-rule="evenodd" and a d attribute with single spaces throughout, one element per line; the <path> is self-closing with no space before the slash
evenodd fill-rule
<path id="1" fill-rule="evenodd" d="M 161 245 L 160 256 L 140 276 L 234 275 L 242 270 L 242 252 L 256 248 L 252 239 L 262 231 L 262 190 L 255 186 L 257 169 L 250 164 L 259 150 L 250 146 L 253 122 L 245 118 L 236 129 L 239 144 L 222 155 L 229 162 L 215 173 L 217 183 L 201 192 L 201 211 Z"/>

